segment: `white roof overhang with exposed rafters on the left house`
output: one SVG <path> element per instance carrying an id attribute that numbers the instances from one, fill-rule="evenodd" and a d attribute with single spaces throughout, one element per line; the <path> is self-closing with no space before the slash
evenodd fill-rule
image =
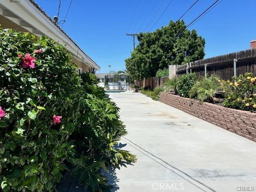
<path id="1" fill-rule="evenodd" d="M 1 9 L 3 7 L 3 9 Z M 35 9 L 33 9 L 33 7 Z M 48 16 L 34 0 L 4 0 L 0 2 L 0 14 L 37 35 L 46 35 L 66 48 L 83 63 L 100 69 L 85 52 Z M 40 15 L 42 14 L 42 15 Z M 18 19 L 20 18 L 20 19 Z M 47 22 L 48 21 L 48 22 Z M 54 29 L 55 28 L 55 29 Z M 80 52 L 79 52 L 80 50 Z"/>

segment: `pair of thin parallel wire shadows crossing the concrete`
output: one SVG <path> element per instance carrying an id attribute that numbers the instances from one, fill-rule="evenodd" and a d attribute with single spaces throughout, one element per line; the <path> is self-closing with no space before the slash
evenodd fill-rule
<path id="1" fill-rule="evenodd" d="M 203 189 L 202 187 L 207 188 L 207 189 L 210 190 L 211 192 L 216 192 L 214 189 L 212 189 L 212 188 L 210 188 L 209 186 L 207 186 L 206 184 L 204 184 L 204 183 L 202 183 L 202 182 L 196 180 L 195 178 L 193 178 L 192 176 L 190 176 L 190 175 L 187 174 L 186 172 L 184 172 L 184 171 L 182 171 L 182 170 L 180 170 L 180 169 L 178 169 L 178 168 L 172 166 L 172 165 L 169 164 L 168 162 L 162 160 L 161 158 L 155 156 L 154 154 L 148 152 L 147 150 L 144 150 L 143 148 L 141 148 L 140 146 L 138 146 L 137 144 L 135 144 L 135 143 L 132 142 L 131 140 L 125 138 L 124 136 L 122 136 L 122 138 L 124 138 L 124 140 L 125 140 L 128 144 L 130 144 L 133 148 L 135 148 L 136 150 L 140 151 L 142 154 L 148 156 L 150 159 L 154 160 L 155 162 L 157 162 L 158 164 L 160 164 L 160 165 L 163 166 L 164 168 L 170 170 L 170 171 L 173 172 L 174 174 L 180 176 L 182 179 L 186 180 L 186 181 L 189 182 L 190 184 L 196 186 L 198 189 L 202 190 L 203 192 L 208 192 L 208 191 L 206 191 L 206 190 Z M 164 165 L 164 164 L 161 163 L 161 162 L 158 162 L 157 160 L 155 160 L 154 158 L 152 158 L 152 157 L 149 156 L 148 154 L 151 155 L 151 156 L 153 156 L 154 158 L 160 160 L 161 162 L 163 162 L 163 163 L 166 164 L 167 166 Z M 170 169 L 168 166 L 171 167 L 171 168 L 173 168 L 174 170 L 177 170 L 178 173 L 175 172 L 174 170 Z M 191 182 L 190 180 L 188 180 L 188 178 L 185 178 L 182 174 L 183 174 L 184 176 L 187 176 L 189 179 L 193 180 L 195 183 L 193 183 L 193 182 Z"/>

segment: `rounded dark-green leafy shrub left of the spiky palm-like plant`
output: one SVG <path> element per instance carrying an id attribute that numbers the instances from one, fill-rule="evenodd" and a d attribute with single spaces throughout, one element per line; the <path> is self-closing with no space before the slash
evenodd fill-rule
<path id="1" fill-rule="evenodd" d="M 177 92 L 182 97 L 188 97 L 190 89 L 196 83 L 196 73 L 182 75 L 177 83 Z"/>

